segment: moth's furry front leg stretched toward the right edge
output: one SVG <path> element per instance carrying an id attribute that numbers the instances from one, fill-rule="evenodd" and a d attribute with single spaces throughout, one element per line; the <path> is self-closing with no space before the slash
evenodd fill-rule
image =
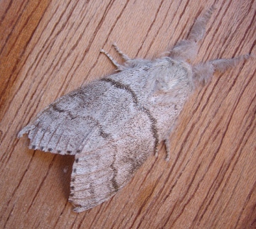
<path id="1" fill-rule="evenodd" d="M 210 60 L 193 66 L 193 82 L 198 85 L 204 85 L 208 79 L 213 76 L 214 72 L 225 72 L 228 68 L 238 65 L 239 62 L 247 60 L 251 55 L 242 55 L 232 59 Z"/>

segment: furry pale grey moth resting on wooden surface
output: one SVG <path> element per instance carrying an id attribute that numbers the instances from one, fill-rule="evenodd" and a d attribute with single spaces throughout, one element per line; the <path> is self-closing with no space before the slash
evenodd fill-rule
<path id="1" fill-rule="evenodd" d="M 199 17 L 186 40 L 165 57 L 131 59 L 117 45 L 124 65 L 105 53 L 119 72 L 60 97 L 18 133 L 29 148 L 75 155 L 69 201 L 75 212 L 107 201 L 132 178 L 149 155 L 166 145 L 188 96 L 215 71 L 225 72 L 249 55 L 191 65 L 214 6 Z"/>

